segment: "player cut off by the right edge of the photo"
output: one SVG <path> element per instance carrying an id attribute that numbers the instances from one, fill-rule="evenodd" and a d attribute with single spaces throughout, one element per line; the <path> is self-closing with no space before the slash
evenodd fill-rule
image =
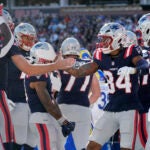
<path id="1" fill-rule="evenodd" d="M 142 55 L 150 64 L 150 13 L 144 14 L 138 20 L 138 32 L 141 33 L 141 40 L 143 41 Z M 140 89 L 139 97 L 144 107 L 140 114 L 139 133 L 141 144 L 146 150 L 150 149 L 150 69 L 140 73 Z M 148 122 L 147 122 L 148 119 Z M 148 127 L 147 127 L 148 123 Z M 147 129 L 148 128 L 148 129 Z M 148 140 L 147 140 L 148 138 Z"/>

